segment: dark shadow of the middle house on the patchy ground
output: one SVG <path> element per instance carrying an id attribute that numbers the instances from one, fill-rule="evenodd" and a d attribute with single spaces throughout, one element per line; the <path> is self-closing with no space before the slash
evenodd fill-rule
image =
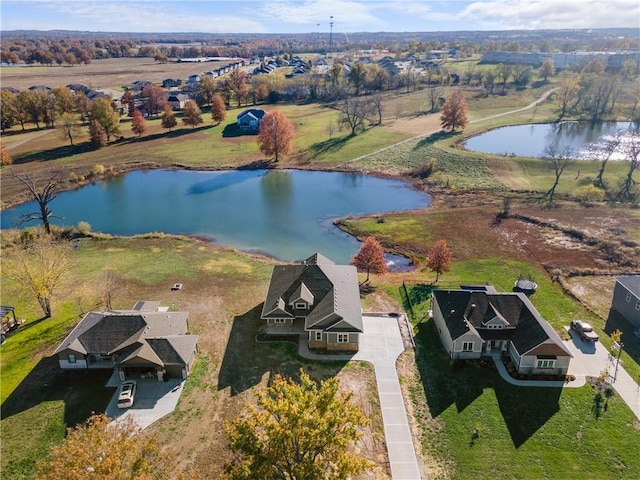
<path id="1" fill-rule="evenodd" d="M 218 390 L 230 388 L 235 396 L 260 384 L 265 375 L 269 381 L 276 374 L 298 380 L 301 367 L 319 380 L 335 376 L 346 365 L 346 361 L 306 360 L 298 356 L 298 345 L 290 341 L 258 343 L 256 337 L 264 331 L 262 305 L 233 318 L 218 374 Z"/>

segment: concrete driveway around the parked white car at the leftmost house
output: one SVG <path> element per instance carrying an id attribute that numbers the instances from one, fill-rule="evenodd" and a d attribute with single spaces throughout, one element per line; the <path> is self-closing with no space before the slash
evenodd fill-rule
<path id="1" fill-rule="evenodd" d="M 168 382 L 159 382 L 154 379 L 144 379 L 136 380 L 136 384 L 136 396 L 132 407 L 118 408 L 118 390 L 116 390 L 105 414 L 112 420 L 133 417 L 136 424 L 144 429 L 175 410 L 182 395 L 184 380 L 172 378 Z M 117 385 L 119 386 L 119 383 Z"/>

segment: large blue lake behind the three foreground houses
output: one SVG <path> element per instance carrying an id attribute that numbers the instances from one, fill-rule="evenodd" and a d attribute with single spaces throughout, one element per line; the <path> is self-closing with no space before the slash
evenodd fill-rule
<path id="1" fill-rule="evenodd" d="M 58 225 L 89 222 L 114 235 L 147 232 L 198 235 L 280 260 L 320 252 L 349 263 L 359 242 L 333 225 L 347 215 L 428 207 L 431 196 L 399 180 L 300 170 L 132 172 L 78 190 L 51 203 Z M 16 226 L 28 203 L 3 211 L 2 228 Z M 401 259 L 391 258 L 400 262 Z"/>

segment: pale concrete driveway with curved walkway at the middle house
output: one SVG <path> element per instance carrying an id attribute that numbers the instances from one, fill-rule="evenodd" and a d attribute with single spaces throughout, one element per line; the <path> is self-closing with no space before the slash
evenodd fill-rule
<path id="1" fill-rule="evenodd" d="M 356 354 L 313 354 L 309 352 L 304 337 L 300 338 L 298 353 L 312 360 L 360 360 L 373 364 L 391 477 L 393 480 L 420 480 L 420 468 L 396 370 L 396 360 L 404 352 L 398 319 L 365 314 L 362 321 L 365 333 L 360 336 L 360 350 Z"/>

